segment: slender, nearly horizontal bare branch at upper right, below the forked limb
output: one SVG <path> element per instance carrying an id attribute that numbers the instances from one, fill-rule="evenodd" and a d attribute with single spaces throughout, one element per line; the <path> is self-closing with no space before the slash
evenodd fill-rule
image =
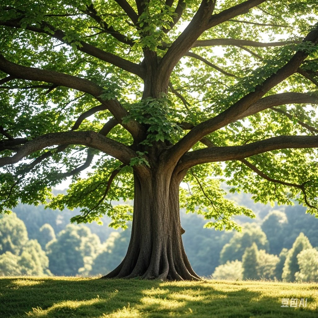
<path id="1" fill-rule="evenodd" d="M 269 46 L 283 46 L 283 45 L 298 44 L 298 43 L 301 43 L 301 40 L 263 43 L 263 42 L 256 42 L 251 40 L 226 38 L 226 39 L 197 40 L 193 43 L 192 47 L 217 46 L 217 45 L 269 47 Z"/>

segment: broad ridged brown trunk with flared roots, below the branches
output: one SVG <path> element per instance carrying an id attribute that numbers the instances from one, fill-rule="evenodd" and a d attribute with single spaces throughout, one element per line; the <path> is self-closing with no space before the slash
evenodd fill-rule
<path id="1" fill-rule="evenodd" d="M 135 175 L 134 216 L 127 254 L 103 278 L 199 280 L 184 252 L 179 183 L 165 171 L 141 181 Z"/>

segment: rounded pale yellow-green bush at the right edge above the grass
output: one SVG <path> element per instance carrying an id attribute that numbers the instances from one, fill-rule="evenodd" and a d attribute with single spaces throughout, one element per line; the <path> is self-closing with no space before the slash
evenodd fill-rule
<path id="1" fill-rule="evenodd" d="M 296 281 L 318 281 L 318 251 L 307 248 L 297 255 L 299 272 L 295 273 Z"/>

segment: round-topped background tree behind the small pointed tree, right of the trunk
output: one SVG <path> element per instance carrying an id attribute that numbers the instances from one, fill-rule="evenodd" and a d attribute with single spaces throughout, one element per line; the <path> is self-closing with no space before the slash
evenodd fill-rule
<path id="1" fill-rule="evenodd" d="M 246 248 L 255 243 L 258 249 L 268 251 L 269 245 L 266 234 L 256 224 L 246 224 L 242 232 L 237 232 L 225 244 L 220 252 L 220 263 L 224 264 L 227 260 L 242 260 Z"/>

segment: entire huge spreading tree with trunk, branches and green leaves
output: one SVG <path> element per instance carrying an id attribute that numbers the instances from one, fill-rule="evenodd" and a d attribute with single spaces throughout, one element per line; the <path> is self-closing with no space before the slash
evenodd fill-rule
<path id="1" fill-rule="evenodd" d="M 20 200 L 81 207 L 79 222 L 133 219 L 106 277 L 199 279 L 179 207 L 218 229 L 252 216 L 222 181 L 316 212 L 316 0 L 3 0 L 0 10 L 2 210 Z M 133 211 L 113 206 L 119 198 Z"/>

